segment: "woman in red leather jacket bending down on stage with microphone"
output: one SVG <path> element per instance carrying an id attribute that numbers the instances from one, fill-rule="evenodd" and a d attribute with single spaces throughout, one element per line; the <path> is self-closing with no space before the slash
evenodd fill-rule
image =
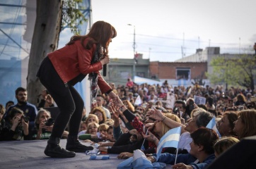
<path id="1" fill-rule="evenodd" d="M 83 99 L 73 87 L 87 74 L 91 80 L 92 98 L 97 94 L 97 85 L 102 93 L 115 98 L 116 94 L 100 75 L 103 65 L 110 62 L 108 45 L 117 36 L 115 27 L 104 21 L 93 24 L 88 35 L 74 36 L 66 46 L 53 51 L 42 61 L 37 72 L 40 82 L 46 87 L 59 107 L 52 134 L 45 148 L 45 155 L 57 158 L 76 156 L 75 152 L 93 149 L 78 142 L 78 130 L 83 112 Z M 59 146 L 66 125 L 69 136 L 66 149 Z"/>

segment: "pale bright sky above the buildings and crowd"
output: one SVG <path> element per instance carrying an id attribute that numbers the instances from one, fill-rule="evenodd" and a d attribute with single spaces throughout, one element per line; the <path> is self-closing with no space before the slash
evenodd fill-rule
<path id="1" fill-rule="evenodd" d="M 256 42 L 255 0 L 91 0 L 93 23 L 117 30 L 110 58 L 134 57 L 173 62 L 196 49 L 221 47 L 238 54 Z M 128 25 L 130 24 L 130 25 Z"/>

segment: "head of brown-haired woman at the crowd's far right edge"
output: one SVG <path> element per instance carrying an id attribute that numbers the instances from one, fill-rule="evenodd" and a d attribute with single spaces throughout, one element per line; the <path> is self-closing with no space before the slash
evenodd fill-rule
<path id="1" fill-rule="evenodd" d="M 256 110 L 248 109 L 238 112 L 233 131 L 238 134 L 238 139 L 256 135 Z"/>

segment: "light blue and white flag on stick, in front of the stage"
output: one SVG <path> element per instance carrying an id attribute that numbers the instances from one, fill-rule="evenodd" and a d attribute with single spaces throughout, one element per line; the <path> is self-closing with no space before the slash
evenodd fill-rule
<path id="1" fill-rule="evenodd" d="M 156 161 L 158 161 L 158 158 L 164 147 L 178 148 L 178 144 L 180 142 L 180 132 L 181 132 L 181 127 L 176 127 L 169 130 L 163 135 L 163 137 L 158 142 L 158 146 L 156 149 Z"/>

